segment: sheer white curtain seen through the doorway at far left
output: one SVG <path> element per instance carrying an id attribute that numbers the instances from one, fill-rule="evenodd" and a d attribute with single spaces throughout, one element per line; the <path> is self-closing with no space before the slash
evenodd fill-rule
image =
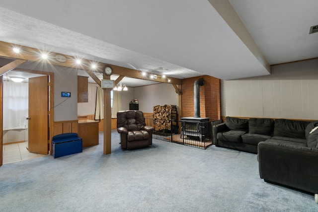
<path id="1" fill-rule="evenodd" d="M 28 83 L 3 81 L 3 130 L 25 129 L 28 108 Z"/>

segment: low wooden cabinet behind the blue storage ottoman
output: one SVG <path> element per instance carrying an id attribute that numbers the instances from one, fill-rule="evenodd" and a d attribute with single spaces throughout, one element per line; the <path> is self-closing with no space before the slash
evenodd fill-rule
<path id="1" fill-rule="evenodd" d="M 83 147 L 98 145 L 98 121 L 79 120 L 79 137 L 83 139 Z"/>

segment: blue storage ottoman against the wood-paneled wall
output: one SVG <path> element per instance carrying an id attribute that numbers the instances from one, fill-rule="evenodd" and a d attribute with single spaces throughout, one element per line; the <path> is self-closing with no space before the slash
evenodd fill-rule
<path id="1" fill-rule="evenodd" d="M 64 133 L 52 139 L 52 156 L 54 158 L 83 151 L 83 141 L 77 133 Z"/>

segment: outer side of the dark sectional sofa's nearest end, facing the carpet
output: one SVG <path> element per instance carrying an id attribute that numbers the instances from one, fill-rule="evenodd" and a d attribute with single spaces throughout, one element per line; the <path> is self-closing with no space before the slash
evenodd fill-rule
<path id="1" fill-rule="evenodd" d="M 257 157 L 265 181 L 318 193 L 318 149 L 261 141 Z"/>

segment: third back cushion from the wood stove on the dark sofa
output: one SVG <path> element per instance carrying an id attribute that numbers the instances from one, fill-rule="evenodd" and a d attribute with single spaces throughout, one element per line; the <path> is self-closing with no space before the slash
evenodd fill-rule
<path id="1" fill-rule="evenodd" d="M 274 136 L 306 139 L 305 129 L 310 122 L 287 119 L 275 120 Z"/>

